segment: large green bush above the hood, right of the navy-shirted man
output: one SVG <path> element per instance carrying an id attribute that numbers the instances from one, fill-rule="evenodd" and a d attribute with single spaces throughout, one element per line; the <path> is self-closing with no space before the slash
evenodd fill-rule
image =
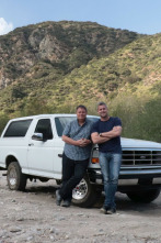
<path id="1" fill-rule="evenodd" d="M 123 122 L 123 136 L 161 142 L 161 98 L 143 100 L 125 96 L 111 103 L 112 114 Z"/>

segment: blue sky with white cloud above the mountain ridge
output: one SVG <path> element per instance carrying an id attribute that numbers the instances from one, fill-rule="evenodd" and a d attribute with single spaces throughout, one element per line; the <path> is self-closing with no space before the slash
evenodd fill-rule
<path id="1" fill-rule="evenodd" d="M 161 0 L 0 0 L 0 35 L 28 24 L 62 20 L 156 34 L 161 32 Z"/>

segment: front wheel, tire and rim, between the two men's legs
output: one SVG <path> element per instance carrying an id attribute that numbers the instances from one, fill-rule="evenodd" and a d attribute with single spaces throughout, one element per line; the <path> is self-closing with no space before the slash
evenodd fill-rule
<path id="1" fill-rule="evenodd" d="M 72 190 L 72 202 L 82 208 L 90 208 L 96 202 L 101 192 L 96 186 L 90 184 L 88 176 L 85 176 Z"/>

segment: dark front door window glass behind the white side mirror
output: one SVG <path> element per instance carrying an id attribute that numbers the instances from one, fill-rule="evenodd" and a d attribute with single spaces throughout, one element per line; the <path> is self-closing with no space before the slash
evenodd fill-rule
<path id="1" fill-rule="evenodd" d="M 37 122 L 35 133 L 43 133 L 44 140 L 51 140 L 53 139 L 53 131 L 50 125 L 49 119 L 41 119 Z"/>

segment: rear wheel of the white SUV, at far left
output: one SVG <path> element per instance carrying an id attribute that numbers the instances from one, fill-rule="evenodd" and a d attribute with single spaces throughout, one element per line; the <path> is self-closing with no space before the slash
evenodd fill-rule
<path id="1" fill-rule="evenodd" d="M 26 186 L 26 175 L 22 174 L 16 162 L 12 162 L 8 167 L 8 186 L 11 190 L 24 190 Z"/>

